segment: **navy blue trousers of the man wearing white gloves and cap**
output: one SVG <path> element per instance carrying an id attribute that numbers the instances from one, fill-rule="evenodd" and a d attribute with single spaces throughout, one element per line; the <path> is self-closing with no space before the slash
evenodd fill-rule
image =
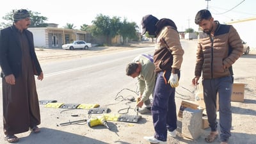
<path id="1" fill-rule="evenodd" d="M 151 113 L 157 140 L 166 141 L 167 130 L 177 129 L 177 113 L 175 104 L 175 88 L 168 84 L 170 71 L 157 74 L 154 99 Z"/>

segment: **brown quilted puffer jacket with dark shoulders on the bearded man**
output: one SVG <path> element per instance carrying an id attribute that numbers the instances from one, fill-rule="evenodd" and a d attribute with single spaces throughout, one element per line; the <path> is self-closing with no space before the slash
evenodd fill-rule
<path id="1" fill-rule="evenodd" d="M 243 54 L 243 44 L 236 29 L 231 25 L 214 22 L 214 35 L 200 33 L 198 38 L 195 76 L 203 73 L 203 79 L 230 76 L 228 68 Z"/>

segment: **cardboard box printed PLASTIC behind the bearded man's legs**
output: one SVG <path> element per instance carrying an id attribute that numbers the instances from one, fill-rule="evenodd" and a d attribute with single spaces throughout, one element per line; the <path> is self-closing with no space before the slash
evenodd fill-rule
<path id="1" fill-rule="evenodd" d="M 232 87 L 232 102 L 244 102 L 244 83 L 234 83 Z"/>

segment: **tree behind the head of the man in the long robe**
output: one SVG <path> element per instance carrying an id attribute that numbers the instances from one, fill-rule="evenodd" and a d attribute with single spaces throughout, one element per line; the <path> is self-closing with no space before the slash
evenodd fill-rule
<path id="1" fill-rule="evenodd" d="M 31 10 L 28 10 L 30 14 L 31 24 L 30 28 L 35 27 L 46 27 L 47 24 L 44 23 L 45 20 L 47 20 L 47 17 L 40 16 L 41 13 L 38 12 L 32 12 Z M 1 22 L 0 27 L 6 28 L 8 26 L 12 26 L 13 24 L 13 12 L 8 12 L 2 19 L 6 20 L 6 22 Z"/>

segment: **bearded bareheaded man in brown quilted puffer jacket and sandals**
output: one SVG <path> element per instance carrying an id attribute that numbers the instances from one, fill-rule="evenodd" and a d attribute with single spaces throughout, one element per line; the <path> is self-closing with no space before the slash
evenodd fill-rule
<path id="1" fill-rule="evenodd" d="M 227 144 L 231 136 L 232 124 L 231 93 L 232 65 L 243 54 L 243 44 L 233 26 L 214 21 L 209 10 L 200 10 L 195 23 L 204 33 L 200 33 L 196 52 L 195 77 L 193 84 L 198 84 L 202 73 L 204 102 L 211 133 L 205 141 L 211 143 L 218 137 L 216 95 L 219 93 L 220 106 L 220 141 Z"/>

